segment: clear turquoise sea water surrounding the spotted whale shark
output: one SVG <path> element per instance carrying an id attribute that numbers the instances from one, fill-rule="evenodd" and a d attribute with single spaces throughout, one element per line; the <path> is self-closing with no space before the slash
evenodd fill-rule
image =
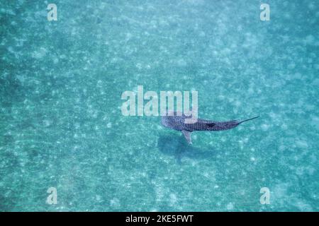
<path id="1" fill-rule="evenodd" d="M 1 211 L 319 210 L 318 1 L 0 2 Z M 260 118 L 188 145 L 121 114 L 138 85 Z"/>

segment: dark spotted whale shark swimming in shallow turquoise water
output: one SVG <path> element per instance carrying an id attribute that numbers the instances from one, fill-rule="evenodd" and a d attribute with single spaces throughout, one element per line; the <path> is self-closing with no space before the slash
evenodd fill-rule
<path id="1" fill-rule="evenodd" d="M 236 126 L 242 124 L 245 121 L 250 121 L 252 119 L 257 119 L 253 117 L 251 119 L 245 119 L 242 121 L 231 120 L 231 121 L 211 121 L 207 119 L 196 119 L 194 123 L 186 123 L 185 119 L 190 119 L 191 116 L 186 116 L 181 112 L 170 112 L 168 115 L 164 115 L 161 118 L 162 125 L 177 131 L 181 131 L 186 141 L 190 144 L 191 142 L 191 132 L 194 131 L 223 131 L 228 129 L 233 129 Z"/>

